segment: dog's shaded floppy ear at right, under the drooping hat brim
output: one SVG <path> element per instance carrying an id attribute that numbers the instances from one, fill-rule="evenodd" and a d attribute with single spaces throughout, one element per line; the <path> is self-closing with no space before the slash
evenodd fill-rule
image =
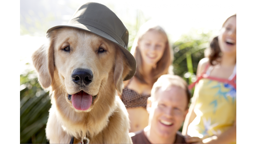
<path id="1" fill-rule="evenodd" d="M 114 85 L 117 91 L 122 94 L 123 79 L 130 72 L 131 68 L 127 63 L 124 53 L 116 46 L 116 62 L 114 71 Z"/>

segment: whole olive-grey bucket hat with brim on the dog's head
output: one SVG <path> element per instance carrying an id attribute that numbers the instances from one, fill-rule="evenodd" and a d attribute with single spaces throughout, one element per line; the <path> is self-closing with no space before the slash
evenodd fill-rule
<path id="1" fill-rule="evenodd" d="M 98 36 L 106 38 L 117 44 L 123 51 L 128 64 L 131 67 L 131 72 L 124 78 L 131 79 L 136 72 L 136 60 L 133 55 L 127 50 L 129 33 L 122 21 L 106 6 L 89 2 L 80 6 L 67 25 L 59 25 L 50 28 L 46 35 L 52 30 L 61 27 L 73 27 L 89 31 Z"/>

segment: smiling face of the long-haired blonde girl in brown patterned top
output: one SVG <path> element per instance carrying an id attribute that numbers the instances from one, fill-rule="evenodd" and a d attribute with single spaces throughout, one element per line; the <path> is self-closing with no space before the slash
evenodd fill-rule
<path id="1" fill-rule="evenodd" d="M 167 38 L 158 31 L 146 32 L 138 41 L 143 62 L 155 66 L 163 56 L 166 41 Z"/>

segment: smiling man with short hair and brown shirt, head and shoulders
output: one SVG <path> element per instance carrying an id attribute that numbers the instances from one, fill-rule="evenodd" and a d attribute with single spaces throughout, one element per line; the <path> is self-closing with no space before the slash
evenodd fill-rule
<path id="1" fill-rule="evenodd" d="M 147 100 L 149 124 L 130 133 L 133 143 L 186 143 L 178 131 L 188 113 L 190 93 L 179 76 L 162 75 Z"/>

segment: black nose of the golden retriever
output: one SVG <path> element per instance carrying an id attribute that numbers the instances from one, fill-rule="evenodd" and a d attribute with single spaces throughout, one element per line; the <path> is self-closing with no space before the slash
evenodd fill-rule
<path id="1" fill-rule="evenodd" d="M 83 83 L 85 85 L 88 85 L 92 82 L 93 74 L 92 71 L 89 69 L 75 69 L 71 75 L 73 82 L 75 82 L 78 85 L 82 85 Z"/>

